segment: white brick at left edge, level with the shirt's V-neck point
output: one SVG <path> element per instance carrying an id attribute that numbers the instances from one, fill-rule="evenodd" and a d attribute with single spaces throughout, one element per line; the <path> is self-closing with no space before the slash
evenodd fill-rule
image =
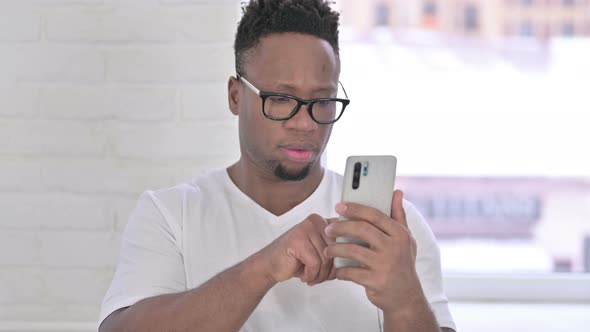
<path id="1" fill-rule="evenodd" d="M 0 227 L 106 230 L 113 222 L 108 201 L 101 197 L 0 194 Z"/>

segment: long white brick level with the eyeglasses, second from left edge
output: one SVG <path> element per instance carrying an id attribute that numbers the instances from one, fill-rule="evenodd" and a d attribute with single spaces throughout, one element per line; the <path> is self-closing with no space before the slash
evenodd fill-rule
<path id="1" fill-rule="evenodd" d="M 164 87 L 53 86 L 41 90 L 41 116 L 75 120 L 172 120 L 176 89 Z"/>

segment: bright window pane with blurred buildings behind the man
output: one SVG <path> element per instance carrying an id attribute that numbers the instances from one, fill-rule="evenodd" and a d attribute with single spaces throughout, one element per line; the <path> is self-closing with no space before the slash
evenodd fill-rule
<path id="1" fill-rule="evenodd" d="M 391 1 L 389 38 L 341 3 L 351 104 L 328 166 L 396 155 L 446 272 L 590 272 L 590 3 L 438 1 L 436 25 L 430 3 Z"/>

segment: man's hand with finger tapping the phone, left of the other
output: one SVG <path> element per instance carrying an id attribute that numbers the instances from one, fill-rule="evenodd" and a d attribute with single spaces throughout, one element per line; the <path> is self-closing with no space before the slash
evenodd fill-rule
<path id="1" fill-rule="evenodd" d="M 324 249 L 335 238 L 326 235 L 324 229 L 336 220 L 312 214 L 259 251 L 257 255 L 266 262 L 271 281 L 298 277 L 311 286 L 334 279 L 333 260 L 325 256 Z"/>

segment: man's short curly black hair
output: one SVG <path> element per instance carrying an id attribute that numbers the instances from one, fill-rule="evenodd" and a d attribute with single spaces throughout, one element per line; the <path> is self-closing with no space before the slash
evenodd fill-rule
<path id="1" fill-rule="evenodd" d="M 326 40 L 339 55 L 340 15 L 324 0 L 251 0 L 243 3 L 243 16 L 234 43 L 236 73 L 244 74 L 248 51 L 273 33 L 298 32 Z"/>

